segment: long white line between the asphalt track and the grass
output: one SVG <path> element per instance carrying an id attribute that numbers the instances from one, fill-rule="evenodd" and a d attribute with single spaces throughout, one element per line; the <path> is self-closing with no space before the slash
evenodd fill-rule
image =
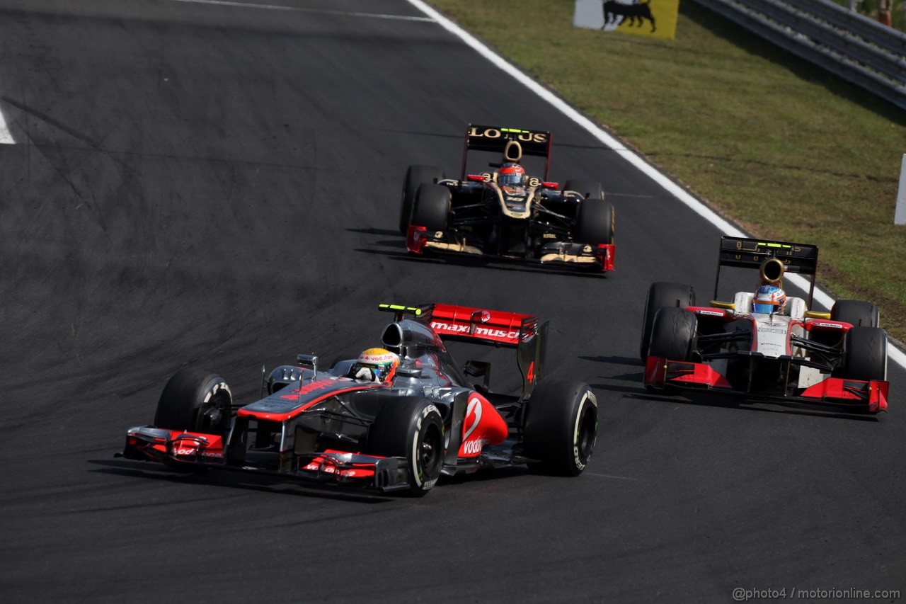
<path id="1" fill-rule="evenodd" d="M 740 229 L 737 229 L 734 225 L 730 224 L 727 220 L 722 219 L 718 214 L 708 208 L 700 200 L 692 196 L 689 191 L 682 189 L 679 185 L 673 180 L 670 180 L 665 174 L 661 173 L 654 166 L 652 166 L 648 161 L 642 159 L 638 154 L 626 149 L 623 146 L 622 141 L 618 141 L 613 138 L 607 132 L 604 132 L 600 126 L 596 123 L 589 120 L 582 113 L 576 111 L 572 106 L 564 102 L 563 99 L 556 96 L 551 91 L 547 90 L 541 84 L 535 82 L 532 78 L 525 75 L 519 71 L 513 64 L 509 63 L 501 57 L 499 54 L 496 54 L 494 51 L 489 49 L 485 44 L 479 42 L 475 36 L 469 34 L 463 28 L 459 27 L 458 24 L 453 23 L 444 15 L 441 15 L 438 11 L 431 8 L 429 5 L 426 5 L 422 0 L 407 0 L 410 5 L 418 8 L 425 15 L 429 15 L 431 20 L 437 21 L 444 29 L 449 33 L 456 35 L 463 42 L 471 46 L 478 54 L 481 54 L 488 61 L 495 64 L 497 67 L 509 73 L 511 76 L 516 78 L 519 83 L 525 85 L 526 88 L 531 90 L 533 93 L 540 96 L 546 102 L 554 106 L 554 108 L 562 112 L 566 117 L 573 120 L 578 124 L 583 130 L 590 133 L 594 138 L 598 139 L 608 147 L 610 147 L 614 152 L 618 153 L 624 160 L 629 161 L 632 166 L 640 170 L 643 174 L 649 177 L 651 180 L 657 182 L 661 187 L 667 190 L 670 195 L 684 203 L 689 209 L 695 211 L 703 219 L 708 220 L 711 224 L 718 228 L 725 235 L 730 235 L 732 237 L 751 237 L 747 232 L 744 232 Z M 800 277 L 799 275 L 788 275 L 786 280 L 789 283 L 792 283 L 795 287 L 798 287 L 804 292 L 808 292 L 808 280 Z M 828 294 L 821 287 L 814 288 L 814 300 L 827 308 L 830 308 L 834 305 L 834 297 Z M 888 347 L 888 355 L 892 358 L 894 362 L 906 369 L 906 354 L 890 344 Z"/>

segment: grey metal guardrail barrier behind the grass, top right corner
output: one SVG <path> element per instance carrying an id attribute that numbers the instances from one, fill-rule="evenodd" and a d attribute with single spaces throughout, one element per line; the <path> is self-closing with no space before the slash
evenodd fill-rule
<path id="1" fill-rule="evenodd" d="M 906 34 L 830 0 L 696 0 L 906 109 Z"/>

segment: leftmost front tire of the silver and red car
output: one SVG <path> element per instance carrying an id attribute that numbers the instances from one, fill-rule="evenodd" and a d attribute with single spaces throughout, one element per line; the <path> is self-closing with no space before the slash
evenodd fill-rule
<path id="1" fill-rule="evenodd" d="M 180 369 L 164 386 L 154 425 L 169 430 L 226 435 L 233 394 L 222 377 L 203 369 Z"/>

